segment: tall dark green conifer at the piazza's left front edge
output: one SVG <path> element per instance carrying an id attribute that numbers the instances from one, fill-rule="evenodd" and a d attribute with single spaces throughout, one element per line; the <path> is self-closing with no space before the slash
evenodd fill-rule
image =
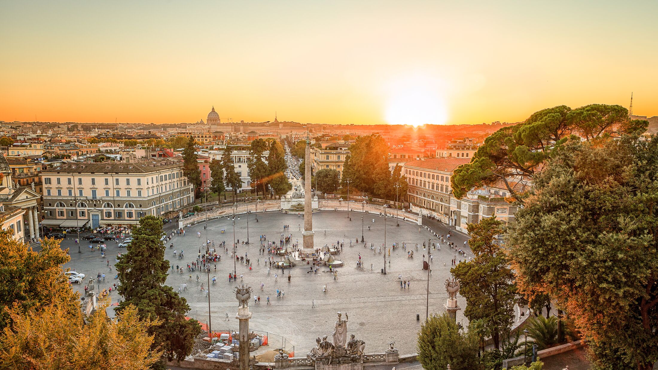
<path id="1" fill-rule="evenodd" d="M 119 310 L 126 310 L 132 304 L 142 319 L 161 320 L 159 325 L 149 328 L 149 334 L 155 335 L 153 349 L 161 346 L 169 361 L 174 357 L 181 360 L 191 353 L 201 327 L 196 320 L 186 319 L 190 306 L 185 298 L 164 284 L 169 262 L 164 260 L 164 244 L 160 240 L 162 227 L 160 218 L 141 218 L 126 254 L 115 265 L 120 281 L 118 292 L 124 298 Z"/>

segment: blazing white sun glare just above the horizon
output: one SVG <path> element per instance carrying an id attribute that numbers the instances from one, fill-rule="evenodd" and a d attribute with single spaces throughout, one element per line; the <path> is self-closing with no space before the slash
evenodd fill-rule
<path id="1" fill-rule="evenodd" d="M 405 78 L 388 87 L 385 120 L 391 125 L 442 125 L 447 122 L 440 83 L 428 78 Z"/>

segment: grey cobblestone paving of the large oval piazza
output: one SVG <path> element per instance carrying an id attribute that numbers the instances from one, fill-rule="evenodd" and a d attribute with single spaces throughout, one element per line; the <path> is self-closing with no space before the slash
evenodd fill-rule
<path id="1" fill-rule="evenodd" d="M 391 245 L 394 242 L 406 242 L 407 250 L 414 251 L 414 257 L 407 257 L 407 250 L 400 246 L 391 251 L 391 256 L 386 255 L 386 269 L 388 274 L 382 275 L 380 269 L 384 267 L 384 252 L 373 253 L 370 250 L 370 243 L 379 246 L 384 243 L 384 217 L 366 214 L 364 217 L 364 236 L 368 247 L 363 244 L 354 243 L 358 237 L 361 239 L 361 216 L 360 213 L 351 212 L 351 221 L 347 212 L 315 212 L 313 214 L 313 225 L 315 228 L 316 246 L 335 244 L 336 241 L 344 241 L 343 252 L 336 256 L 336 259 L 343 260 L 345 266 L 339 267 L 338 277 L 334 280 L 330 275 L 328 268 L 318 269 L 318 273 L 307 273 L 307 267 L 293 267 L 287 269 L 286 277 L 281 271 L 278 273 L 278 279 L 275 281 L 272 269 L 268 275 L 264 266 L 264 260 L 268 257 L 259 255 L 259 235 L 265 234 L 268 240 L 278 241 L 280 233 L 283 232 L 283 225 L 290 225 L 290 231 L 293 234 L 293 241 L 301 241 L 301 223 L 303 219 L 295 214 L 282 214 L 280 212 L 268 212 L 258 214 L 258 222 L 255 215 L 251 214 L 249 218 L 249 241 L 251 244 L 242 244 L 247 239 L 247 216 L 240 215 L 240 220 L 236 220 L 236 239 L 240 240 L 238 246 L 238 256 L 247 256 L 252 261 L 252 270 L 245 264 L 237 264 L 238 275 L 243 274 L 243 282 L 253 287 L 255 295 L 261 296 L 261 303 L 254 305 L 250 303 L 250 310 L 253 312 L 253 318 L 250 321 L 250 328 L 259 331 L 266 331 L 275 335 L 284 336 L 295 345 L 298 354 L 305 354 L 312 346 L 315 346 L 315 338 L 322 335 L 331 335 L 336 321 L 336 312 L 347 312 L 349 315 L 349 334 L 355 334 L 357 338 L 365 340 L 368 353 L 382 352 L 388 347 L 390 340 L 396 342 L 395 346 L 399 348 L 401 354 L 416 352 L 415 341 L 420 322 L 424 319 L 426 306 L 426 291 L 428 289 L 427 271 L 422 269 L 423 255 L 427 254 L 422 248 L 423 241 L 433 236 L 425 227 L 413 225 L 400 221 L 400 226 L 395 227 L 395 220 L 388 218 L 386 224 L 386 244 Z M 372 222 L 374 219 L 374 223 Z M 370 225 L 371 230 L 368 230 Z M 174 224 L 165 225 L 166 230 L 172 229 Z M 221 229 L 226 230 L 221 233 Z M 433 225 L 437 233 L 447 234 L 449 228 L 445 225 Z M 201 232 L 201 238 L 197 237 L 197 231 Z M 188 263 L 196 258 L 201 244 L 205 240 L 211 239 L 215 244 L 226 241 L 227 245 L 233 242 L 233 225 L 227 218 L 213 220 L 207 223 L 207 229 L 203 228 L 203 223 L 187 229 L 185 237 L 174 237 L 171 242 L 173 248 L 166 249 L 166 257 L 170 258 L 170 263 L 174 268 L 178 264 L 185 267 Z M 353 241 L 353 246 L 349 246 L 349 239 Z M 453 230 L 451 241 L 455 245 L 463 248 L 463 242 L 467 240 L 465 235 Z M 167 243 L 167 244 L 168 244 Z M 418 250 L 415 249 L 415 243 L 418 243 Z M 118 283 L 113 277 L 116 274 L 113 267 L 107 267 L 107 260 L 114 264 L 114 258 L 118 252 L 125 252 L 124 248 L 118 248 L 115 243 L 108 244 L 108 253 L 106 258 L 101 258 L 99 252 L 89 251 L 87 244 L 83 244 L 83 252 L 77 253 L 77 246 L 71 239 L 63 242 L 64 247 L 71 248 L 72 260 L 65 267 L 76 269 L 88 277 L 95 277 L 97 273 L 105 273 L 105 281 L 101 281 L 101 289 L 106 289 L 113 283 Z M 179 260 L 173 258 L 174 249 L 184 250 L 186 258 Z M 467 248 L 468 250 L 468 248 Z M 432 275 L 429 281 L 429 311 L 430 313 L 444 312 L 443 304 L 447 298 L 445 293 L 444 282 L 449 277 L 450 260 L 453 257 L 463 259 L 464 257 L 455 254 L 454 250 L 447 248 L 442 244 L 441 250 L 432 251 L 434 260 L 432 261 Z M 356 264 L 361 255 L 364 268 L 357 268 Z M 470 256 L 468 251 L 467 256 Z M 275 257 L 276 260 L 280 258 Z M 390 261 L 390 265 L 389 265 Z M 372 264 L 372 269 L 370 265 Z M 237 302 L 233 289 L 236 282 L 228 282 L 228 273 L 234 269 L 234 264 L 230 258 L 230 252 L 222 254 L 222 260 L 216 264 L 216 272 L 211 271 L 217 278 L 216 285 L 211 285 L 211 320 L 213 330 L 235 330 L 238 329 L 238 320 L 236 315 Z M 111 269 L 111 271 L 110 271 Z M 288 283 L 287 275 L 291 274 L 291 282 Z M 205 273 L 199 274 L 200 283 L 196 282 L 197 271 L 190 281 L 190 273 L 174 273 L 170 270 L 170 275 L 166 283 L 175 290 L 182 283 L 188 284 L 188 289 L 182 292 L 190 304 L 191 317 L 206 323 L 208 321 L 208 298 L 205 292 L 201 291 L 201 283 L 207 287 L 208 276 Z M 410 281 L 411 287 L 402 289 L 399 285 L 398 275 L 402 279 Z M 85 279 L 87 280 L 87 279 Z M 260 284 L 264 283 L 263 290 Z M 327 291 L 322 292 L 322 286 L 327 286 Z M 74 289 L 82 290 L 83 285 L 74 285 Z M 276 289 L 284 291 L 283 298 L 276 298 Z M 120 299 L 116 293 L 111 294 L 114 302 Z M 265 304 L 266 297 L 270 296 L 272 304 Z M 315 308 L 313 308 L 315 300 Z M 462 308 L 457 313 L 457 321 L 466 324 L 463 317 L 463 308 L 465 300 L 458 297 L 459 306 Z M 226 314 L 230 319 L 226 321 Z M 416 320 L 417 314 L 420 321 Z"/>

